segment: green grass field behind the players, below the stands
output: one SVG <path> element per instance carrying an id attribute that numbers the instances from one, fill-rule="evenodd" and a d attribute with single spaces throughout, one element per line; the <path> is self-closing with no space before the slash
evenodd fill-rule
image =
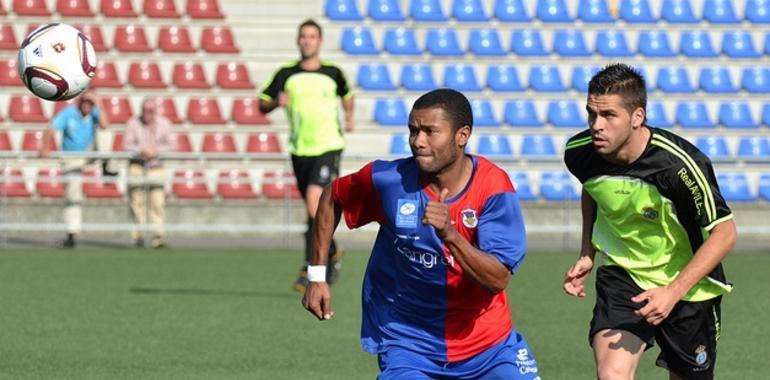
<path id="1" fill-rule="evenodd" d="M 575 253 L 530 253 L 509 287 L 543 379 L 591 379 L 592 299 L 564 295 Z M 0 249 L 0 378 L 373 379 L 358 344 L 364 252 L 348 253 L 332 321 L 291 290 L 298 252 Z M 770 254 L 728 257 L 717 378 L 768 379 Z M 593 290 L 591 291 L 593 293 Z M 668 378 L 646 355 L 639 379 Z"/>

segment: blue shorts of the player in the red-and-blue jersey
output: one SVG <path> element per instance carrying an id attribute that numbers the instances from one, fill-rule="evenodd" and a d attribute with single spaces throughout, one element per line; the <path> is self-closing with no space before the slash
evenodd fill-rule
<path id="1" fill-rule="evenodd" d="M 454 363 L 436 362 L 403 347 L 391 346 L 378 356 L 378 380 L 513 379 L 540 380 L 537 363 L 524 337 L 513 331 L 486 351 Z"/>

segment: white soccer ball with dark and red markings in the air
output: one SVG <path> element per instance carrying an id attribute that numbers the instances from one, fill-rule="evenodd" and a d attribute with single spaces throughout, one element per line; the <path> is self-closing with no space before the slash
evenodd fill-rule
<path id="1" fill-rule="evenodd" d="M 68 100 L 82 94 L 96 73 L 91 41 L 66 24 L 35 29 L 22 41 L 18 62 L 24 85 L 45 100 Z"/>

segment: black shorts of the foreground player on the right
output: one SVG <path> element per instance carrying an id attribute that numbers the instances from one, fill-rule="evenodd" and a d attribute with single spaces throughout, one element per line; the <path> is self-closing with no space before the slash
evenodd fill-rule
<path id="1" fill-rule="evenodd" d="M 601 330 L 628 331 L 647 343 L 648 349 L 655 342 L 660 345 L 656 361 L 659 367 L 683 379 L 713 379 L 722 297 L 701 302 L 679 301 L 662 324 L 652 326 L 634 315 L 643 304 L 632 302 L 631 298 L 643 291 L 625 269 L 599 267 L 589 342 Z"/>

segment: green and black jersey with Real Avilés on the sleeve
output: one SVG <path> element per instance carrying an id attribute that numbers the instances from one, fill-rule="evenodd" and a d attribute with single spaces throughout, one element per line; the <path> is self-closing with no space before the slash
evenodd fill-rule
<path id="1" fill-rule="evenodd" d="M 671 132 L 648 128 L 647 148 L 630 165 L 602 158 L 590 130 L 570 138 L 564 152 L 567 168 L 596 201 L 594 247 L 643 289 L 670 284 L 709 231 L 732 218 L 708 157 Z M 684 300 L 703 301 L 731 289 L 720 264 Z"/>

